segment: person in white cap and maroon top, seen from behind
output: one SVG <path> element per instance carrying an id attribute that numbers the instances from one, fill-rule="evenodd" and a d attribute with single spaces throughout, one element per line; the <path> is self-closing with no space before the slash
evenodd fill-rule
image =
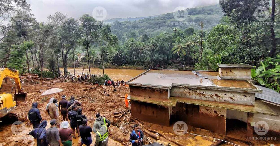
<path id="1" fill-rule="evenodd" d="M 72 134 L 73 130 L 69 128 L 69 123 L 67 121 L 63 121 L 61 123 L 61 128 L 58 130 L 60 141 L 63 146 L 71 146 L 72 145 Z"/>

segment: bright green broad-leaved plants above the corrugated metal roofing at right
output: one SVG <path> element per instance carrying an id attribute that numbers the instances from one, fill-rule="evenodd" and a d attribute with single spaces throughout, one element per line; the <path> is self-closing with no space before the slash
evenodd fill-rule
<path id="1" fill-rule="evenodd" d="M 252 78 L 258 84 L 280 92 L 280 55 L 276 58 L 266 58 L 261 66 L 252 69 Z"/>

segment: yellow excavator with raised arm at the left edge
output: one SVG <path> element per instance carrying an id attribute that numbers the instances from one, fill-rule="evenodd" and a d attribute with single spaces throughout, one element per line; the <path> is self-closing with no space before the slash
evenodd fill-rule
<path id="1" fill-rule="evenodd" d="M 10 93 L 1 93 L 1 85 L 3 79 L 9 77 L 15 80 L 18 93 L 16 93 L 15 87 L 11 89 Z M 12 97 L 13 89 L 15 94 Z M 24 121 L 27 118 L 27 113 L 24 111 L 19 112 L 16 108 L 19 102 L 24 102 L 27 94 L 22 91 L 20 85 L 20 77 L 18 70 L 6 68 L 4 66 L 0 67 L 0 121 L 2 122 L 14 122 L 14 121 Z"/>

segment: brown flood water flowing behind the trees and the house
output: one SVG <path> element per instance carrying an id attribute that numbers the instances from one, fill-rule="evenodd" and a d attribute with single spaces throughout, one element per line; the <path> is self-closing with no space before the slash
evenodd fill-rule
<path id="1" fill-rule="evenodd" d="M 59 68 L 60 71 L 63 73 L 63 68 Z M 74 68 L 67 68 L 67 71 L 70 72 L 71 75 L 74 75 Z M 108 74 L 108 76 L 112 80 L 124 80 L 128 81 L 129 79 L 136 77 L 137 75 L 143 73 L 146 70 L 140 70 L 140 69 L 115 69 L 115 68 L 109 68 L 104 69 L 104 73 Z M 83 72 L 83 68 L 75 68 L 75 74 L 80 75 Z M 85 74 L 89 74 L 88 68 L 84 68 Z M 90 68 L 90 73 L 95 75 L 102 75 L 102 69 L 99 68 Z"/>

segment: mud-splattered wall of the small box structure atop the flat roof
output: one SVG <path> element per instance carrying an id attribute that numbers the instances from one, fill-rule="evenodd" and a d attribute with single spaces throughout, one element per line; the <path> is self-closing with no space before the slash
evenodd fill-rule
<path id="1" fill-rule="evenodd" d="M 250 80 L 251 68 L 219 68 L 221 79 Z"/>

